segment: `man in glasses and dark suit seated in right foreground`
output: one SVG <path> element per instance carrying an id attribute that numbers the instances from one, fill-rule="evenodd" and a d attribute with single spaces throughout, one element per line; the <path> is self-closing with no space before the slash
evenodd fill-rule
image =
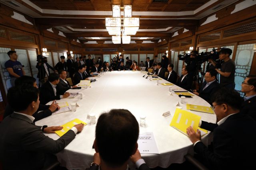
<path id="1" fill-rule="evenodd" d="M 187 134 L 194 143 L 194 152 L 202 164 L 216 170 L 253 170 L 256 159 L 256 122 L 249 115 L 239 113 L 242 98 L 236 90 L 221 88 L 211 98 L 217 123 L 200 120 L 202 129 L 213 132 L 213 151 L 201 142 L 190 126 Z M 202 117 L 201 117 L 202 119 Z"/>

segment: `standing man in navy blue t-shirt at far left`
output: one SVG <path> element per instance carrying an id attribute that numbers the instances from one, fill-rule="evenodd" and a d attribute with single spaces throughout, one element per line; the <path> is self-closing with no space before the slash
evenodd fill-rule
<path id="1" fill-rule="evenodd" d="M 20 76 L 25 76 L 25 71 L 22 68 L 21 63 L 17 61 L 18 55 L 16 51 L 8 51 L 7 54 L 10 57 L 10 60 L 6 61 L 6 63 L 4 63 L 4 66 L 9 72 L 10 83 L 12 86 L 14 86 L 15 79 Z"/>

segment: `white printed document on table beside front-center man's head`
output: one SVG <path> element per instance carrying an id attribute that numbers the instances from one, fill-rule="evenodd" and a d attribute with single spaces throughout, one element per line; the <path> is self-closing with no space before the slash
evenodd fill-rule
<path id="1" fill-rule="evenodd" d="M 137 143 L 140 154 L 159 154 L 153 132 L 140 132 Z"/>

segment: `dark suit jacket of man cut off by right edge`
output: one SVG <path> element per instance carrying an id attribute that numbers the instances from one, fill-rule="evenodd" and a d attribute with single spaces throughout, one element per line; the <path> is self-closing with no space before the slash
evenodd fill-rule
<path id="1" fill-rule="evenodd" d="M 242 102 L 240 113 L 249 115 L 256 121 L 256 96 Z"/>

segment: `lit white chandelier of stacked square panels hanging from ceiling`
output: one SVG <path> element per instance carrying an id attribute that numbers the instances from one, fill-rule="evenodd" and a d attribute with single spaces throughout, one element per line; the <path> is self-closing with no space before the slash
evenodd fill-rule
<path id="1" fill-rule="evenodd" d="M 122 33 L 122 43 L 129 44 L 131 41 L 130 35 L 136 35 L 140 27 L 140 18 L 132 18 L 132 6 L 123 5 L 124 18 L 121 18 L 120 5 L 112 5 L 112 18 L 105 18 L 106 29 L 109 35 L 112 36 L 112 41 L 114 44 L 121 43 L 121 33 Z M 124 21 L 121 21 L 123 19 Z M 123 23 L 123 29 L 121 22 Z"/>

